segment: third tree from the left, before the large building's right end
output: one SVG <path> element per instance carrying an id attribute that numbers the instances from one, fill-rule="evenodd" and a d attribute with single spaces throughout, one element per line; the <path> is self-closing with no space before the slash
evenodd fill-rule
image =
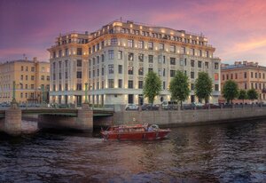
<path id="1" fill-rule="evenodd" d="M 201 100 L 205 99 L 205 103 L 213 91 L 212 79 L 205 72 L 200 72 L 195 82 L 195 95 Z"/>

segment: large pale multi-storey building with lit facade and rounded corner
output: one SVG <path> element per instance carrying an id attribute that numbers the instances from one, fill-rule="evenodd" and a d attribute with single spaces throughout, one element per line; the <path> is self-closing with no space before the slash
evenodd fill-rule
<path id="1" fill-rule="evenodd" d="M 69 53 L 64 55 L 66 50 Z M 191 95 L 186 102 L 197 100 L 193 88 L 200 71 L 213 79 L 210 102 L 217 102 L 220 95 L 220 59 L 214 57 L 215 48 L 207 44 L 207 37 L 184 30 L 114 20 L 90 34 L 59 36 L 56 46 L 48 51 L 51 53 L 51 99 L 59 103 L 81 103 L 88 83 L 90 103 L 142 104 L 147 102 L 142 89 L 150 70 L 162 80 L 162 91 L 155 103 L 170 100 L 168 84 L 176 70 L 184 71 L 190 78 Z M 68 70 L 63 65 L 66 60 L 72 67 Z M 79 71 L 77 60 L 82 60 Z M 70 88 L 66 91 L 63 84 Z M 82 85 L 77 87 L 78 84 Z M 69 97 L 62 98 L 66 93 Z"/>

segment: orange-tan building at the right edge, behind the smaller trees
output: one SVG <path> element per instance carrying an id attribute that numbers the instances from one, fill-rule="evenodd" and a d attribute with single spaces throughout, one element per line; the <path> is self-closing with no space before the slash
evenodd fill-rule
<path id="1" fill-rule="evenodd" d="M 228 80 L 235 81 L 239 89 L 249 90 L 254 88 L 259 93 L 259 100 L 265 100 L 266 67 L 258 65 L 258 62 L 235 61 L 233 65 L 221 65 L 221 85 Z"/>

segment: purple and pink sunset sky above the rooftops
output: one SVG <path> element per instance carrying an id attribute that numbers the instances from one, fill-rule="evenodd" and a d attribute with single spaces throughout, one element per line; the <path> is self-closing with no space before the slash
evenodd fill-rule
<path id="1" fill-rule="evenodd" d="M 223 63 L 266 66 L 265 0 L 0 0 L 0 62 L 37 57 L 59 33 L 93 32 L 113 20 L 202 33 Z"/>

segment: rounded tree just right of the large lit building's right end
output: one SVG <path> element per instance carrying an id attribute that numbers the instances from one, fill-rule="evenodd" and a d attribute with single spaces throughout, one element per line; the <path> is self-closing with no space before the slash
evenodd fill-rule
<path id="1" fill-rule="evenodd" d="M 239 87 L 238 84 L 232 80 L 228 80 L 223 85 L 223 98 L 227 100 L 229 103 L 232 102 L 233 99 L 237 98 L 239 95 Z"/>

